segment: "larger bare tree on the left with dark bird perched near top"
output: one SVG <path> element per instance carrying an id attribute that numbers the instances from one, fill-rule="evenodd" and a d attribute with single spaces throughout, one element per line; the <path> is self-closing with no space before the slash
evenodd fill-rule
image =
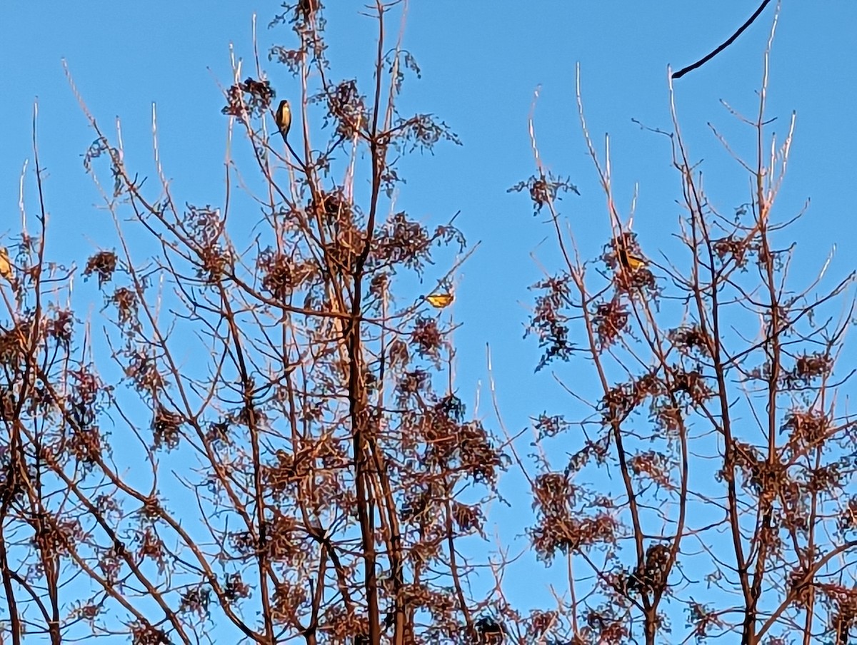
<path id="1" fill-rule="evenodd" d="M 147 182 L 78 96 L 117 240 L 83 275 L 112 325 L 102 336 L 75 314 L 73 272 L 45 258 L 40 211 L 38 230 L 9 244 L 16 284 L 3 287 L 12 642 L 403 643 L 491 629 L 459 542 L 481 532 L 501 453 L 455 395 L 448 317 L 393 296 L 426 278 L 442 306 L 451 254 L 464 257 L 452 210 L 429 230 L 393 209 L 400 158 L 458 142 L 397 110 L 419 70 L 387 33 L 393 9 L 372 9 L 369 84 L 333 78 L 321 2 L 275 18 L 296 44 L 270 56 L 300 88 L 293 124 L 284 146 L 259 57 L 251 72 L 236 63 L 223 112 L 249 164 L 227 159 L 219 206 L 177 198 L 154 114 Z M 451 248 L 440 272 L 439 247 Z"/>

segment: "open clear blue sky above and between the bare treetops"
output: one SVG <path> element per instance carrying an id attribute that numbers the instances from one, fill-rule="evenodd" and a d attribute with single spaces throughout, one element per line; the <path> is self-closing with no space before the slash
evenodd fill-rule
<path id="1" fill-rule="evenodd" d="M 329 52 L 337 78 L 366 81 L 374 56 L 373 24 L 357 15 L 363 2 L 328 0 Z M 513 431 L 543 410 L 565 411 L 568 397 L 550 370 L 533 375 L 538 350 L 522 340 L 542 266 L 559 268 L 550 230 L 534 218 L 530 202 L 506 189 L 534 172 L 527 116 L 536 87 L 536 134 L 542 160 L 570 176 L 581 196 L 560 202 L 564 215 L 594 257 L 608 240 L 608 219 L 597 177 L 585 154 L 574 105 L 574 66 L 580 63 L 590 133 L 612 141 L 614 188 L 623 214 L 639 185 L 634 230 L 646 252 L 669 250 L 676 230 L 679 178 L 665 140 L 642 131 L 669 128 L 667 65 L 680 69 L 708 53 L 745 21 L 757 0 L 709 3 L 659 0 L 623 3 L 413 0 L 405 48 L 417 58 L 420 81 L 407 81 L 402 111 L 428 111 L 448 123 L 464 146 L 440 145 L 434 157 L 405 164 L 408 183 L 399 204 L 429 224 L 461 211 L 457 225 L 470 243 L 482 242 L 461 271 L 454 314 L 459 395 L 472 409 L 477 382 L 485 382 L 485 344 L 494 353 L 500 406 Z M 677 81 L 676 100 L 692 157 L 704 159 L 706 188 L 728 212 L 747 201 L 746 175 L 716 142 L 711 122 L 740 152 L 750 152 L 752 131 L 718 103 L 752 114 L 758 105 L 762 52 L 773 4 L 727 51 Z M 0 236 L 18 230 L 21 165 L 32 158 L 33 99 L 39 98 L 39 146 L 47 169 L 51 212 L 49 255 L 82 266 L 99 243 L 93 223 L 99 202 L 84 175 L 81 155 L 94 136 L 63 77 L 66 59 L 90 110 L 106 126 L 122 119 L 128 157 L 151 159 L 151 105 L 159 110 L 161 158 L 175 181 L 178 201 L 218 204 L 223 199 L 224 105 L 218 82 L 231 83 L 228 46 L 249 61 L 251 16 L 261 51 L 291 43 L 282 27 L 267 29 L 279 5 L 167 2 L 0 4 Z M 781 218 L 812 199 L 794 229 L 797 266 L 812 271 L 838 244 L 831 272 L 854 266 L 857 233 L 853 192 L 857 150 L 857 3 L 789 0 L 782 9 L 771 57 L 768 116 L 784 134 L 792 110 L 797 128 L 790 170 L 779 200 Z M 285 69 L 267 71 L 279 96 L 297 93 Z M 32 169 L 32 164 L 31 164 Z M 32 189 L 32 181 L 29 183 Z M 31 206 L 34 194 L 29 194 Z M 109 244 L 108 244 L 109 245 Z M 531 257 L 535 254 L 536 260 Z M 439 270 L 442 267 L 438 267 Z M 569 367 L 560 367 L 560 372 Z M 482 415 L 495 427 L 482 388 Z M 525 447 L 525 446 L 524 446 Z M 524 524 L 525 525 L 525 524 Z M 523 525 L 518 527 L 518 533 Z"/>

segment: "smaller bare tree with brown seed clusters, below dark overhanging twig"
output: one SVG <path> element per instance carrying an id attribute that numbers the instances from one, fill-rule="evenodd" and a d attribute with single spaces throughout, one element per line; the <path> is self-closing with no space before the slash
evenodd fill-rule
<path id="1" fill-rule="evenodd" d="M 756 157 L 734 155 L 712 128 L 752 187 L 733 213 L 709 200 L 672 100 L 672 131 L 651 130 L 671 146 L 676 237 L 689 262 L 645 253 L 632 213 L 619 212 L 609 148 L 599 158 L 586 128 L 579 70 L 580 125 L 612 231 L 602 254 L 581 256 L 573 218 L 566 228 L 557 210 L 573 187 L 537 154 L 536 175 L 513 188 L 549 212 L 565 261 L 536 285 L 539 367 L 578 366 L 567 379 L 556 373 L 589 409 L 535 422 L 530 536 L 539 558 L 568 567 L 566 593 L 542 615 L 545 642 L 842 644 L 857 626 L 857 445 L 842 389 L 852 370 L 838 361 L 854 274 L 831 282 L 830 258 L 815 277 L 792 270 L 788 226 L 804 212 L 778 221 L 774 205 L 794 115 L 784 139 L 767 134 L 769 52 L 770 41 L 758 113 L 729 108 L 752 128 Z M 581 364 L 597 392 L 581 385 L 590 379 Z M 571 438 L 575 450 L 557 463 L 551 443 Z"/>

